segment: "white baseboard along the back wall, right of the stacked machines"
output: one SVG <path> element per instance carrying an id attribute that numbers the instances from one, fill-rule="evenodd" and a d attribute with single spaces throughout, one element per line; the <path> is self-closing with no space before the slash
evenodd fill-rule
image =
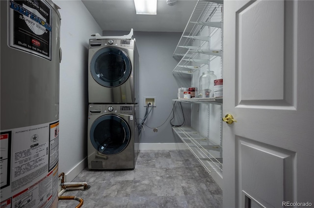
<path id="1" fill-rule="evenodd" d="M 184 143 L 139 143 L 139 150 L 184 150 Z"/>

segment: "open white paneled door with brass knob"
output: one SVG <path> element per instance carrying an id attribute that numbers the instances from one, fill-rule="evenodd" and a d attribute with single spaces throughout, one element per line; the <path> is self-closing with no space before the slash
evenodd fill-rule
<path id="1" fill-rule="evenodd" d="M 223 207 L 314 206 L 314 1 L 225 0 L 223 34 Z"/>

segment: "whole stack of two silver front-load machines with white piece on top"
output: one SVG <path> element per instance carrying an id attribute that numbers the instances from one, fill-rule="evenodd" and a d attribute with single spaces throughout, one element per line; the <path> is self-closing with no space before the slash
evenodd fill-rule
<path id="1" fill-rule="evenodd" d="M 138 51 L 133 31 L 89 40 L 88 168 L 134 169 L 138 155 Z"/>

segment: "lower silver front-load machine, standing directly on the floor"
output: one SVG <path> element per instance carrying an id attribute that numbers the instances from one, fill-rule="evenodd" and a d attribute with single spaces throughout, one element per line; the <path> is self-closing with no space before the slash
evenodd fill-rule
<path id="1" fill-rule="evenodd" d="M 88 168 L 134 169 L 138 155 L 135 105 L 88 106 Z"/>

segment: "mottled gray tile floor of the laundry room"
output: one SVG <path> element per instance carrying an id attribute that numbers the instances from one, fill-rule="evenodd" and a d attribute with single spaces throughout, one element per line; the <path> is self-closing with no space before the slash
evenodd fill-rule
<path id="1" fill-rule="evenodd" d="M 189 150 L 146 150 L 134 170 L 82 170 L 73 182 L 88 190 L 63 196 L 84 200 L 82 208 L 221 208 L 222 190 Z M 58 208 L 75 208 L 75 200 L 60 200 Z"/>

